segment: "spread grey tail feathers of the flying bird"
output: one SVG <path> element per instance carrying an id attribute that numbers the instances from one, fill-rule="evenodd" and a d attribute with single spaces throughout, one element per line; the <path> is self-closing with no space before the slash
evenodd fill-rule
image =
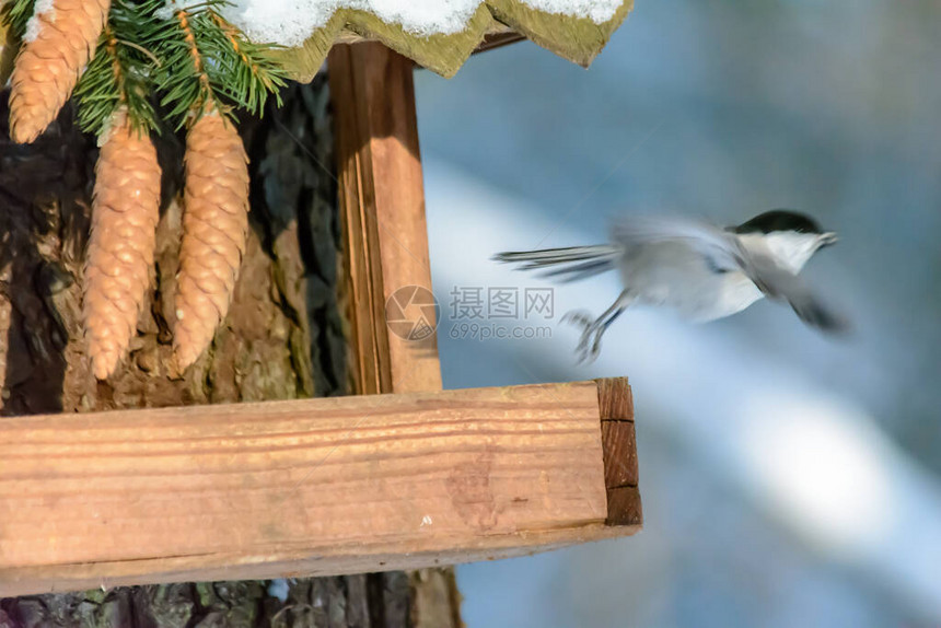
<path id="1" fill-rule="evenodd" d="M 497 261 L 519 264 L 520 270 L 543 270 L 541 277 L 555 277 L 561 281 L 578 281 L 601 275 L 614 268 L 621 254 L 619 246 L 601 244 L 596 246 L 571 246 L 568 248 L 545 248 L 519 253 L 498 253 Z"/>

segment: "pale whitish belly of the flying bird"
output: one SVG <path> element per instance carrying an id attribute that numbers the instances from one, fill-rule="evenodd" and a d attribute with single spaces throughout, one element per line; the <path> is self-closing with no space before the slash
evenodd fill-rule
<path id="1" fill-rule="evenodd" d="M 743 272 L 716 272 L 685 246 L 658 245 L 621 269 L 636 303 L 669 307 L 695 322 L 730 316 L 763 296 Z"/>

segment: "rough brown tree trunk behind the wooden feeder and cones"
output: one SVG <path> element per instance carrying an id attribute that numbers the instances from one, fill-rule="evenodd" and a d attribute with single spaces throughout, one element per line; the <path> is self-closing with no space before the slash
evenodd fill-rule
<path id="1" fill-rule="evenodd" d="M 97 156 L 66 111 L 33 146 L 0 140 L 0 407 L 73 412 L 345 394 L 340 225 L 326 81 L 246 119 L 252 230 L 224 326 L 185 376 L 170 372 L 183 147 L 159 140 L 166 201 L 153 291 L 117 373 L 96 382 L 81 332 L 82 260 Z M 5 94 L 0 120 L 5 125 Z M 416 592 L 420 591 L 420 594 Z M 415 604 L 416 600 L 420 604 Z M 0 601 L 11 626 L 460 626 L 453 572 L 185 583 Z"/>

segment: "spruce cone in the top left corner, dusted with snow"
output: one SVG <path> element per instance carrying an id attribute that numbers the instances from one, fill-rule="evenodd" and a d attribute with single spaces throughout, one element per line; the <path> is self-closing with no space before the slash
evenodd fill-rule
<path id="1" fill-rule="evenodd" d="M 51 9 L 30 20 L 10 79 L 13 141 L 32 142 L 56 119 L 94 55 L 109 5 L 111 0 L 53 0 Z"/>

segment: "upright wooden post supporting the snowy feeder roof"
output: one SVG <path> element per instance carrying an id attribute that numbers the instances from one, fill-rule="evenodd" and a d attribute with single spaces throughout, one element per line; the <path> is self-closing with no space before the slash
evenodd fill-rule
<path id="1" fill-rule="evenodd" d="M 390 332 L 386 325 L 393 294 L 406 300 L 431 295 L 413 63 L 369 43 L 335 46 L 328 67 L 355 389 L 440 389 L 437 335 L 409 340 L 402 328 Z M 419 313 L 415 303 L 407 311 L 409 316 Z"/>

